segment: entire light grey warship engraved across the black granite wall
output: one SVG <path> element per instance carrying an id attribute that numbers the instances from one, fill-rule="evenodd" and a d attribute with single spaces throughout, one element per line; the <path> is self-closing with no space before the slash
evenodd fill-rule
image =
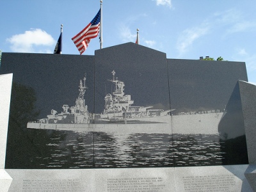
<path id="1" fill-rule="evenodd" d="M 112 94 L 108 93 L 105 100 L 104 111 L 100 114 L 89 113 L 88 106 L 84 99 L 86 92 L 86 75 L 83 81 L 80 80 L 79 96 L 76 99 L 76 105 L 69 107 L 63 105 L 63 111 L 58 113 L 54 109 L 47 118 L 42 118 L 36 122 L 28 122 L 27 128 L 31 129 L 99 129 L 104 131 L 115 129 L 115 127 L 125 127 L 131 124 L 129 129 L 140 129 L 141 127 L 165 127 L 167 132 L 191 132 L 193 127 L 202 132 L 207 130 L 218 132 L 218 124 L 223 116 L 220 111 L 205 111 L 204 113 L 181 113 L 179 115 L 171 115 L 170 112 L 175 110 L 154 109 L 153 106 L 132 106 L 134 100 L 131 95 L 125 95 L 124 82 L 115 77 L 115 70 L 112 71 L 113 78 L 111 83 L 115 84 L 115 90 Z M 172 122 L 172 123 L 171 123 Z M 172 126 L 172 127 L 170 127 Z M 212 128 L 209 129 L 209 126 Z M 142 129 L 142 128 L 141 128 Z M 155 128 L 153 128 L 155 129 Z M 164 132 L 166 132 L 164 131 Z M 194 132 L 192 130 L 192 132 Z"/>

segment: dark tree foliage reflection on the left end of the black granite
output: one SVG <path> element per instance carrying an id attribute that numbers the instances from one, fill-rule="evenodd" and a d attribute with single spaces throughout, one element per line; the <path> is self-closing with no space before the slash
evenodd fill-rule
<path id="1" fill-rule="evenodd" d="M 27 123 L 37 120 L 36 92 L 24 84 L 13 82 L 6 147 L 6 168 L 31 168 L 35 155 L 40 150 L 34 145 L 34 137 L 28 137 Z"/>

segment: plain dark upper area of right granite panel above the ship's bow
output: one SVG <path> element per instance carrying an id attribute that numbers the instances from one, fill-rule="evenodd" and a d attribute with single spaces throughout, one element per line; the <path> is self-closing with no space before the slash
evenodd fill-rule
<path id="1" fill-rule="evenodd" d="M 223 111 L 238 80 L 248 81 L 244 62 L 168 59 L 171 106 L 178 112 Z"/>

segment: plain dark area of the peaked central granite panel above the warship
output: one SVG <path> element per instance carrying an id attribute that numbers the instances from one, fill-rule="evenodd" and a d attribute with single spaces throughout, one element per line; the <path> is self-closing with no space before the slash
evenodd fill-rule
<path id="1" fill-rule="evenodd" d="M 104 109 L 104 97 L 111 93 L 112 71 L 124 81 L 125 94 L 134 106 L 170 109 L 166 54 L 137 44 L 122 44 L 95 51 L 95 112 Z"/>

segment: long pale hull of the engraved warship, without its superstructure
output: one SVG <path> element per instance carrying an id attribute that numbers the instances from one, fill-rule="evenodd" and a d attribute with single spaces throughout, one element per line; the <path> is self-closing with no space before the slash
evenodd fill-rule
<path id="1" fill-rule="evenodd" d="M 63 131 L 95 131 L 166 134 L 218 134 L 218 124 L 223 113 L 196 115 L 173 115 L 162 117 L 129 119 L 125 122 L 105 122 L 100 124 L 43 124 L 29 122 L 30 129 L 53 129 Z"/>

